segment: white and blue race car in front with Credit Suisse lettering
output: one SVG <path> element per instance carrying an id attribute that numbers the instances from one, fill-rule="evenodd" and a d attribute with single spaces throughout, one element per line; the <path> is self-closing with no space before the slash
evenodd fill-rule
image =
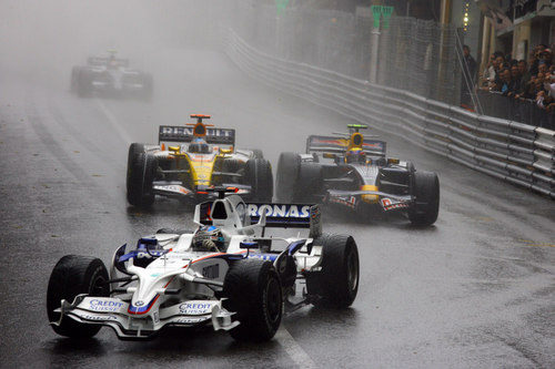
<path id="1" fill-rule="evenodd" d="M 151 338 L 169 326 L 211 325 L 239 340 L 263 341 L 283 311 L 307 304 L 344 308 L 359 289 L 353 237 L 322 234 L 317 205 L 245 204 L 230 188 L 199 204 L 195 232 L 160 229 L 102 260 L 62 257 L 48 285 L 48 317 L 67 337 L 101 326 L 121 339 Z M 264 237 L 265 227 L 310 228 L 307 237 Z"/>

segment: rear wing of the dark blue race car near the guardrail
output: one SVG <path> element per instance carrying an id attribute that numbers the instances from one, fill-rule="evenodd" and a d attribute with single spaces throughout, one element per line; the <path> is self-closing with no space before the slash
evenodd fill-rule
<path id="1" fill-rule="evenodd" d="M 306 140 L 306 154 L 337 153 L 343 154 L 349 147 L 349 139 L 337 136 L 311 135 Z M 362 150 L 369 155 L 385 156 L 386 144 L 384 141 L 364 139 Z"/>

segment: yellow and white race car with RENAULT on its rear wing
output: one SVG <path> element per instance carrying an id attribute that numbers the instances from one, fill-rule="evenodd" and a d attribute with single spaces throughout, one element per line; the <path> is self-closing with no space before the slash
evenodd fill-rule
<path id="1" fill-rule="evenodd" d="M 127 189 L 134 206 L 150 206 L 155 195 L 198 204 L 214 197 L 212 186 L 239 187 L 252 202 L 273 196 L 272 165 L 260 150 L 235 150 L 235 130 L 204 124 L 160 126 L 159 144 L 129 147 Z"/>

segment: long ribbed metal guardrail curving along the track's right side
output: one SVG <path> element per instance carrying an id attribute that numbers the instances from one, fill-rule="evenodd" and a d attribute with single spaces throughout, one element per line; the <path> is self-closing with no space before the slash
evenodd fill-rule
<path id="1" fill-rule="evenodd" d="M 478 172 L 555 198 L 555 132 L 260 52 L 229 30 L 224 49 L 245 73 L 370 123 Z"/>

